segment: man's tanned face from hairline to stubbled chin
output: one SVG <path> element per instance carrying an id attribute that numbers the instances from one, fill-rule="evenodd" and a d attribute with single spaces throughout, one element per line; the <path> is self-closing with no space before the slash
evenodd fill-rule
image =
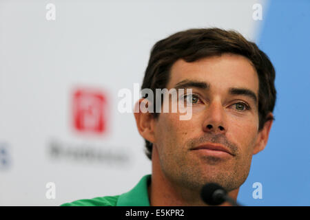
<path id="1" fill-rule="evenodd" d="M 160 113 L 155 120 L 153 148 L 165 177 L 194 190 L 207 182 L 239 188 L 258 152 L 258 76 L 250 61 L 234 54 L 178 60 L 167 84 L 172 88 L 192 89 L 192 118 Z M 229 153 L 215 151 L 218 145 Z"/>

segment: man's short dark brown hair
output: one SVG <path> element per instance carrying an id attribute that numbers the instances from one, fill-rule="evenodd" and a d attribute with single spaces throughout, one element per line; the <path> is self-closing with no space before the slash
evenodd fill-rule
<path id="1" fill-rule="evenodd" d="M 152 47 L 141 89 L 152 89 L 154 100 L 156 100 L 155 89 L 164 89 L 167 86 L 170 69 L 178 59 L 194 62 L 201 58 L 220 56 L 225 53 L 245 56 L 256 69 L 259 80 L 260 131 L 265 122 L 274 120 L 273 117 L 267 116 L 269 112 L 273 112 L 276 103 L 274 86 L 276 73 L 268 56 L 259 50 L 255 43 L 247 41 L 236 31 L 219 28 L 189 29 L 158 41 Z M 155 107 L 155 103 L 153 105 Z M 159 113 L 154 112 L 152 115 L 158 118 Z M 147 140 L 145 140 L 145 153 L 149 159 L 152 159 L 152 143 Z"/>

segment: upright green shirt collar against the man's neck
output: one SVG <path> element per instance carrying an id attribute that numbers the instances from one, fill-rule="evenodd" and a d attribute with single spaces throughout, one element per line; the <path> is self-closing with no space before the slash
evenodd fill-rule
<path id="1" fill-rule="evenodd" d="M 149 195 L 147 186 L 151 181 L 151 175 L 145 175 L 142 179 L 130 190 L 118 197 L 116 206 L 149 206 Z"/>

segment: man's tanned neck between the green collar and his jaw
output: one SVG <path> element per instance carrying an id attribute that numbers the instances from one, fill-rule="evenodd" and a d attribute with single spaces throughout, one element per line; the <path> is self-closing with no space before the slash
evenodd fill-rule
<path id="1" fill-rule="evenodd" d="M 232 199 L 237 199 L 239 188 L 228 193 Z M 170 181 L 159 164 L 158 152 L 153 146 L 152 180 L 148 187 L 151 206 L 207 206 L 200 199 L 200 190 L 191 190 Z M 225 202 L 220 206 L 230 206 Z"/>

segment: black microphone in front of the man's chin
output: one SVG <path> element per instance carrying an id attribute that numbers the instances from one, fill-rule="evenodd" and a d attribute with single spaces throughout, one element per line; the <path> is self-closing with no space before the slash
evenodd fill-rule
<path id="1" fill-rule="evenodd" d="M 232 206 L 240 206 L 240 204 L 229 197 L 226 190 L 218 184 L 205 184 L 200 191 L 200 196 L 209 206 L 218 206 L 224 201 L 228 201 Z"/>

